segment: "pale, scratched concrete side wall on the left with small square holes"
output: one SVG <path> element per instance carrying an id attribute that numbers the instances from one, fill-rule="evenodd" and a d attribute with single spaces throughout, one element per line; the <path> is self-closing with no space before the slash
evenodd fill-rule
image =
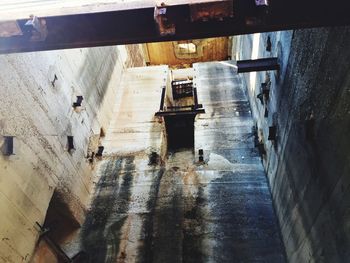
<path id="1" fill-rule="evenodd" d="M 0 262 L 28 262 L 56 190 L 82 223 L 91 187 L 89 137 L 107 128 L 125 65 L 125 48 L 0 56 Z M 74 110 L 76 96 L 83 96 Z M 67 151 L 74 136 L 74 152 Z"/>

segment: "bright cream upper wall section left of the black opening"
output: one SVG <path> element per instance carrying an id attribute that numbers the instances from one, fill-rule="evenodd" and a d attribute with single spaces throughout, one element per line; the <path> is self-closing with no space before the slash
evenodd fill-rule
<path id="1" fill-rule="evenodd" d="M 103 140 L 105 153 L 130 154 L 156 151 L 162 142 L 159 110 L 168 66 L 130 68 L 123 76 L 113 105 L 113 118 Z"/>

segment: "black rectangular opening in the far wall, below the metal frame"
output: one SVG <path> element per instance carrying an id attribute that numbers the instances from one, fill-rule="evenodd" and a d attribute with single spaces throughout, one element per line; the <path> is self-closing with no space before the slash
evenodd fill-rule
<path id="1" fill-rule="evenodd" d="M 164 117 L 169 151 L 194 147 L 195 116 L 189 114 Z"/>

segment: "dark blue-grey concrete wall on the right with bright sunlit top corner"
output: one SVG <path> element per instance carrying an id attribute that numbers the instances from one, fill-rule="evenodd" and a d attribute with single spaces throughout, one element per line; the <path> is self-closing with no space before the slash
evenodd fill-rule
<path id="1" fill-rule="evenodd" d="M 265 49 L 268 36 L 272 52 Z M 244 79 L 290 262 L 348 262 L 350 256 L 349 45 L 349 28 L 238 39 L 237 59 L 277 55 L 282 65 L 269 73 L 265 105 L 256 98 L 265 73 Z M 267 136 L 273 123 L 272 143 Z"/>

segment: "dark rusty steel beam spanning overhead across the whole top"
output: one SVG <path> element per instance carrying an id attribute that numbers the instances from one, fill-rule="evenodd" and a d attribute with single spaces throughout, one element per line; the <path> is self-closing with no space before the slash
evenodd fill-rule
<path id="1" fill-rule="evenodd" d="M 257 6 L 255 0 L 226 2 L 228 13 L 207 17 L 201 16 L 205 12 L 196 15 L 201 8 L 193 4 L 179 4 L 165 6 L 166 14 L 162 7 L 158 13 L 140 7 L 0 22 L 0 54 L 350 24 L 348 0 L 270 0 L 268 6 Z"/>

